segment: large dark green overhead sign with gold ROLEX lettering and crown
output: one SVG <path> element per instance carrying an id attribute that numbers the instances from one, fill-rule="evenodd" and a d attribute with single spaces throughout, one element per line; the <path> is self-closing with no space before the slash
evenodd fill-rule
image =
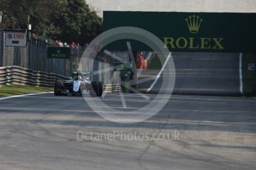
<path id="1" fill-rule="evenodd" d="M 103 21 L 104 30 L 114 27 L 148 30 L 170 51 L 256 52 L 256 13 L 105 11 Z M 117 50 L 119 44 L 111 48 Z"/>

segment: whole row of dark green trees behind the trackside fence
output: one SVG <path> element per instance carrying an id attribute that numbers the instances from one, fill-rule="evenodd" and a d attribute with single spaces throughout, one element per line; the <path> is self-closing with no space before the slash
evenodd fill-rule
<path id="1" fill-rule="evenodd" d="M 102 18 L 85 0 L 1 0 L 1 28 L 26 29 L 30 16 L 38 38 L 85 43 L 101 32 Z"/>

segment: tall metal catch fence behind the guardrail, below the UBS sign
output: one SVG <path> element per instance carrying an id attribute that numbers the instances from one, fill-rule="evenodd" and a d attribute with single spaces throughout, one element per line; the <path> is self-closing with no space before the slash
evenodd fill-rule
<path id="1" fill-rule="evenodd" d="M 27 42 L 27 47 L 7 47 L 5 33 L 1 31 L 0 67 L 19 66 L 34 71 L 65 75 L 65 59 L 47 58 L 47 45 L 44 41 L 31 39 Z"/>

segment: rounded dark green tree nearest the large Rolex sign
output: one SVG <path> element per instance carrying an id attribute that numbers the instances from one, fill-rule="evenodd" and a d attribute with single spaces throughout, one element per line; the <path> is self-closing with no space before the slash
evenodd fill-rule
<path id="1" fill-rule="evenodd" d="M 62 25 L 60 38 L 88 42 L 101 32 L 102 19 L 91 11 L 84 0 L 66 0 L 56 23 Z"/>

